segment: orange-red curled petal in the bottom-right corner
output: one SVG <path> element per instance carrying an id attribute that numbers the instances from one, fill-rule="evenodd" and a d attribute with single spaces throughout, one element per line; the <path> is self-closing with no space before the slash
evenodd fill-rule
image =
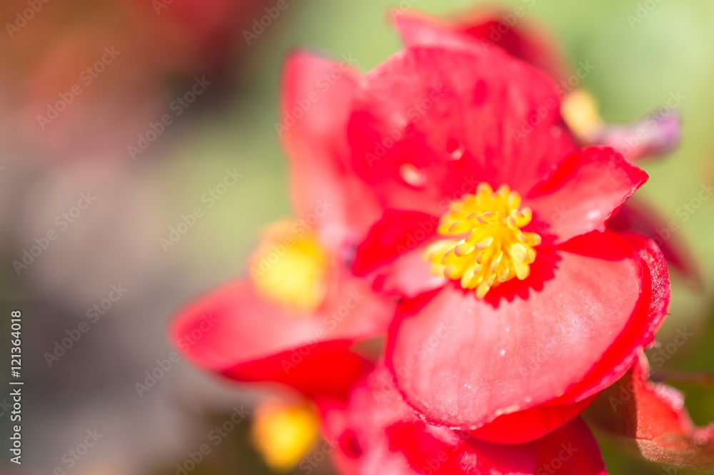
<path id="1" fill-rule="evenodd" d="M 640 359 L 617 384 L 595 401 L 590 419 L 620 437 L 645 459 L 685 469 L 714 470 L 714 424 L 697 427 L 676 389 L 649 380 Z"/>

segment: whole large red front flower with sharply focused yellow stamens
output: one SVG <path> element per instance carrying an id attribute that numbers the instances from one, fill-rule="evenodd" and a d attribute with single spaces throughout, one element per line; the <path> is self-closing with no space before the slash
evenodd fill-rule
<path id="1" fill-rule="evenodd" d="M 353 270 L 406 297 L 386 359 L 428 423 L 521 413 L 518 431 L 476 435 L 536 439 L 622 376 L 666 313 L 659 249 L 605 231 L 647 175 L 578 150 L 559 104 L 545 74 L 468 41 L 407 47 L 359 84 L 351 159 L 384 213 Z"/>

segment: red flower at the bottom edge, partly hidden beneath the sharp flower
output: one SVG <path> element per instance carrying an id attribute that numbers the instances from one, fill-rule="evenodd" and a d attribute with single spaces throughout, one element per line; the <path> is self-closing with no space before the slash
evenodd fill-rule
<path id="1" fill-rule="evenodd" d="M 355 385 L 346 406 L 329 408 L 323 419 L 326 436 L 338 447 L 333 459 L 345 474 L 607 473 L 598 444 L 580 419 L 529 444 L 490 444 L 419 420 L 383 366 Z"/>

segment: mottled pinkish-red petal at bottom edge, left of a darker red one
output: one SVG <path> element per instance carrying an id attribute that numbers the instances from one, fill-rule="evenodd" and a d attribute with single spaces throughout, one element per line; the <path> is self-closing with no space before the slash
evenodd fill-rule
<path id="1" fill-rule="evenodd" d="M 356 385 L 341 416 L 334 412 L 328 414 L 333 432 L 327 436 L 341 441 L 338 465 L 350 474 L 535 473 L 532 445 L 498 446 L 424 424 L 381 366 Z"/>

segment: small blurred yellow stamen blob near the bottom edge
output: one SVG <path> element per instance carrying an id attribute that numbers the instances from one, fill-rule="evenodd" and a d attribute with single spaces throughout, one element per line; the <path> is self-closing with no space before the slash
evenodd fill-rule
<path id="1" fill-rule="evenodd" d="M 319 436 L 318 418 L 306 404 L 261 404 L 251 427 L 253 445 L 275 471 L 290 471 Z"/>

